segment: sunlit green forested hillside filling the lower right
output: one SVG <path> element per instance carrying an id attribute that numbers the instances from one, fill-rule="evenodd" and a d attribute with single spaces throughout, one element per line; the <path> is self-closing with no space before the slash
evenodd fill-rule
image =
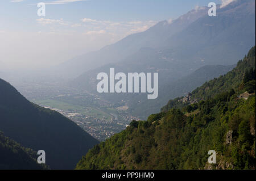
<path id="1" fill-rule="evenodd" d="M 94 146 L 76 169 L 255 169 L 255 47 L 229 73 Z M 217 163 L 209 164 L 215 150 Z"/>

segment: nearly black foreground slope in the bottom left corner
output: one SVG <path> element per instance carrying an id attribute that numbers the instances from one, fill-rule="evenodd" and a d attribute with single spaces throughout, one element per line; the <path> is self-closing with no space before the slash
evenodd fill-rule
<path id="1" fill-rule="evenodd" d="M 40 170 L 46 165 L 36 163 L 36 151 L 24 148 L 0 132 L 0 170 Z"/>

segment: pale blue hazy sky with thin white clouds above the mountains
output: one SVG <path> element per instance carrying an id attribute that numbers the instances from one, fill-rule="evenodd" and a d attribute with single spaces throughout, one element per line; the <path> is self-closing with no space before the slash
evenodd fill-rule
<path id="1" fill-rule="evenodd" d="M 1 0 L 0 70 L 54 66 L 198 6 L 230 1 Z M 38 16 L 39 2 L 46 16 Z"/>

